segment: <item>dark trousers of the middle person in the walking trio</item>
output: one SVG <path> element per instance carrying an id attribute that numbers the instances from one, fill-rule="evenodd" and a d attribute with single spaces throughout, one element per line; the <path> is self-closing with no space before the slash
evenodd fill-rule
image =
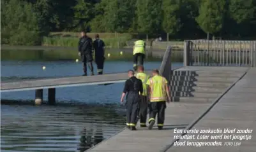
<path id="1" fill-rule="evenodd" d="M 147 121 L 147 96 L 142 95 L 140 100 L 140 125 L 146 125 Z"/>

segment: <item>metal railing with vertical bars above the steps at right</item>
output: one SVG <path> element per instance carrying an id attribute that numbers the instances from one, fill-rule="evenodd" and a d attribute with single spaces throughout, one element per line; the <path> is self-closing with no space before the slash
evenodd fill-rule
<path id="1" fill-rule="evenodd" d="M 184 41 L 184 66 L 256 67 L 256 41 Z"/>

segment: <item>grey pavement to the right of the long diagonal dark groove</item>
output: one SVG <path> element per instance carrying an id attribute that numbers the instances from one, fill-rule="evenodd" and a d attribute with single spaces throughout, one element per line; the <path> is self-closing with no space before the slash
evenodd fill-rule
<path id="1" fill-rule="evenodd" d="M 217 140 L 222 142 L 230 141 L 235 144 L 241 142 L 241 146 L 172 146 L 170 151 L 256 151 L 256 68 L 252 68 L 248 73 L 234 85 L 229 92 L 223 95 L 222 99 L 207 113 L 202 120 L 195 124 L 193 128 L 229 128 L 229 129 L 252 129 L 252 139 L 239 140 Z M 193 129 L 192 128 L 192 129 Z M 192 135 L 192 134 L 188 134 Z M 221 135 L 221 134 L 216 134 Z M 232 135 L 232 134 L 227 134 Z M 246 134 L 238 134 L 246 135 Z M 197 136 L 197 134 L 196 134 Z M 184 141 L 184 140 L 181 140 Z M 202 140 L 193 140 L 202 141 Z M 213 140 L 205 140 L 213 141 Z"/>

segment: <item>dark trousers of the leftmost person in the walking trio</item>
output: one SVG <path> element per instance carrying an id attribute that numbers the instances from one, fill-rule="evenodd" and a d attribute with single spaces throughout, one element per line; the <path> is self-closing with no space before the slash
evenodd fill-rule
<path id="1" fill-rule="evenodd" d="M 139 111 L 140 97 L 137 93 L 128 93 L 126 100 L 126 125 L 135 127 Z"/>

